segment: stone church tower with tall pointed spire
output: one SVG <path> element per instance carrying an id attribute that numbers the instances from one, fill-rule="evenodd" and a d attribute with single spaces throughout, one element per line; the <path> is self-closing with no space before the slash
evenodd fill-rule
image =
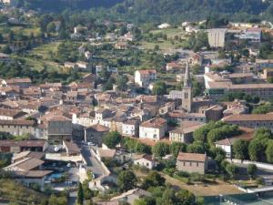
<path id="1" fill-rule="evenodd" d="M 182 108 L 187 112 L 191 112 L 192 105 L 192 84 L 189 77 L 188 62 L 186 66 L 186 72 L 184 77 L 184 87 L 182 88 Z"/>

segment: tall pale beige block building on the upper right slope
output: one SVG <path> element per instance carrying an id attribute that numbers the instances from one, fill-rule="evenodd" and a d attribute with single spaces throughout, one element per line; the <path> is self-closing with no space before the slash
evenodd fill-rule
<path id="1" fill-rule="evenodd" d="M 211 47 L 224 47 L 227 29 L 214 28 L 207 30 L 208 44 Z"/>

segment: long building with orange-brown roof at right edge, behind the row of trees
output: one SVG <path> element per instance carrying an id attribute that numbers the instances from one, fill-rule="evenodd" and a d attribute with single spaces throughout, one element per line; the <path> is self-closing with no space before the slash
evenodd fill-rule
<path id="1" fill-rule="evenodd" d="M 269 128 L 273 130 L 273 114 L 241 114 L 222 119 L 228 124 L 246 128 Z"/>

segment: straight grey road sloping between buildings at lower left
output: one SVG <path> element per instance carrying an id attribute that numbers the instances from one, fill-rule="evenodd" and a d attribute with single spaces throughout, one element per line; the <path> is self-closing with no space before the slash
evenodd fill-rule
<path id="1" fill-rule="evenodd" d="M 81 152 L 82 152 L 84 159 L 86 159 L 87 170 L 92 170 L 92 172 L 95 174 L 96 177 L 103 175 L 104 169 L 101 167 L 101 164 L 95 158 L 95 156 L 92 156 L 92 154 L 90 152 L 90 148 L 88 146 L 84 146 L 82 148 Z"/>

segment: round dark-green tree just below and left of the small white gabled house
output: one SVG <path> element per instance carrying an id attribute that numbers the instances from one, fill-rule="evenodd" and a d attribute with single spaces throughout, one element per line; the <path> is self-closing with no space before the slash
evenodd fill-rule
<path id="1" fill-rule="evenodd" d="M 117 185 L 121 191 L 134 189 L 136 181 L 136 175 L 130 170 L 121 171 L 117 177 Z"/>

